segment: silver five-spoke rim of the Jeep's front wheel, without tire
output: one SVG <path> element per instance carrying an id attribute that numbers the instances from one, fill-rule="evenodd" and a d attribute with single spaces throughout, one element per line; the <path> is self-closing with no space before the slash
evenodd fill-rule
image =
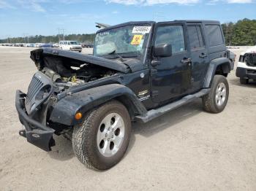
<path id="1" fill-rule="evenodd" d="M 105 157 L 118 152 L 124 140 L 124 120 L 117 113 L 110 113 L 100 122 L 97 133 L 97 147 Z"/>

